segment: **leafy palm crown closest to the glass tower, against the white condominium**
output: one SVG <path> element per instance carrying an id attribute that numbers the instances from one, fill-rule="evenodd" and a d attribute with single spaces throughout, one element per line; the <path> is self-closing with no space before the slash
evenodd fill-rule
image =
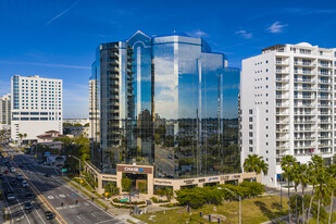
<path id="1" fill-rule="evenodd" d="M 257 174 L 262 172 L 264 175 L 269 173 L 269 164 L 258 154 L 249 154 L 245 159 L 242 167 L 245 172 L 256 172 Z"/>

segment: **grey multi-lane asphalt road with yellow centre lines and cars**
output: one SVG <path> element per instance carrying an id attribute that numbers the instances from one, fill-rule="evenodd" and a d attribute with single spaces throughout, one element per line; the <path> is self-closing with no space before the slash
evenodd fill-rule
<path id="1" fill-rule="evenodd" d="M 33 157 L 16 152 L 11 148 L 7 147 L 3 150 L 9 155 L 5 159 L 16 170 L 2 177 L 2 188 L 7 191 L 13 190 L 15 194 L 15 200 L 7 201 L 12 217 L 11 223 L 123 223 L 64 182 L 57 169 L 40 166 Z M 9 170 L 3 159 L 0 161 L 0 169 L 1 173 Z M 46 176 L 46 173 L 50 176 Z M 22 174 L 28 181 L 28 188 L 22 187 L 22 181 L 17 181 L 13 186 L 10 184 L 17 174 Z M 27 191 L 36 197 L 26 198 Z M 26 201 L 32 202 L 30 210 L 25 209 Z M 55 219 L 47 220 L 46 211 L 52 211 Z"/>

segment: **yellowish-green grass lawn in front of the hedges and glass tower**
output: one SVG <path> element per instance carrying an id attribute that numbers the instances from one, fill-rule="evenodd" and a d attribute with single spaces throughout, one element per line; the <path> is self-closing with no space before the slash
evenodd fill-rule
<path id="1" fill-rule="evenodd" d="M 241 201 L 241 223 L 259 224 L 284 216 L 288 212 L 287 198 L 283 197 L 283 209 L 279 208 L 279 196 L 265 196 L 260 198 L 245 199 Z M 216 208 L 216 211 L 213 209 Z M 209 223 L 203 217 L 199 216 L 199 212 L 203 214 L 219 213 L 226 216 L 226 222 L 222 223 L 238 223 L 239 203 L 238 201 L 225 202 L 222 206 L 206 204 L 201 209 L 190 210 L 191 215 L 186 208 L 177 208 L 174 210 L 147 213 L 135 215 L 135 217 L 145 223 Z M 149 220 L 151 215 L 152 221 Z M 190 220 L 191 219 L 191 220 Z"/>

